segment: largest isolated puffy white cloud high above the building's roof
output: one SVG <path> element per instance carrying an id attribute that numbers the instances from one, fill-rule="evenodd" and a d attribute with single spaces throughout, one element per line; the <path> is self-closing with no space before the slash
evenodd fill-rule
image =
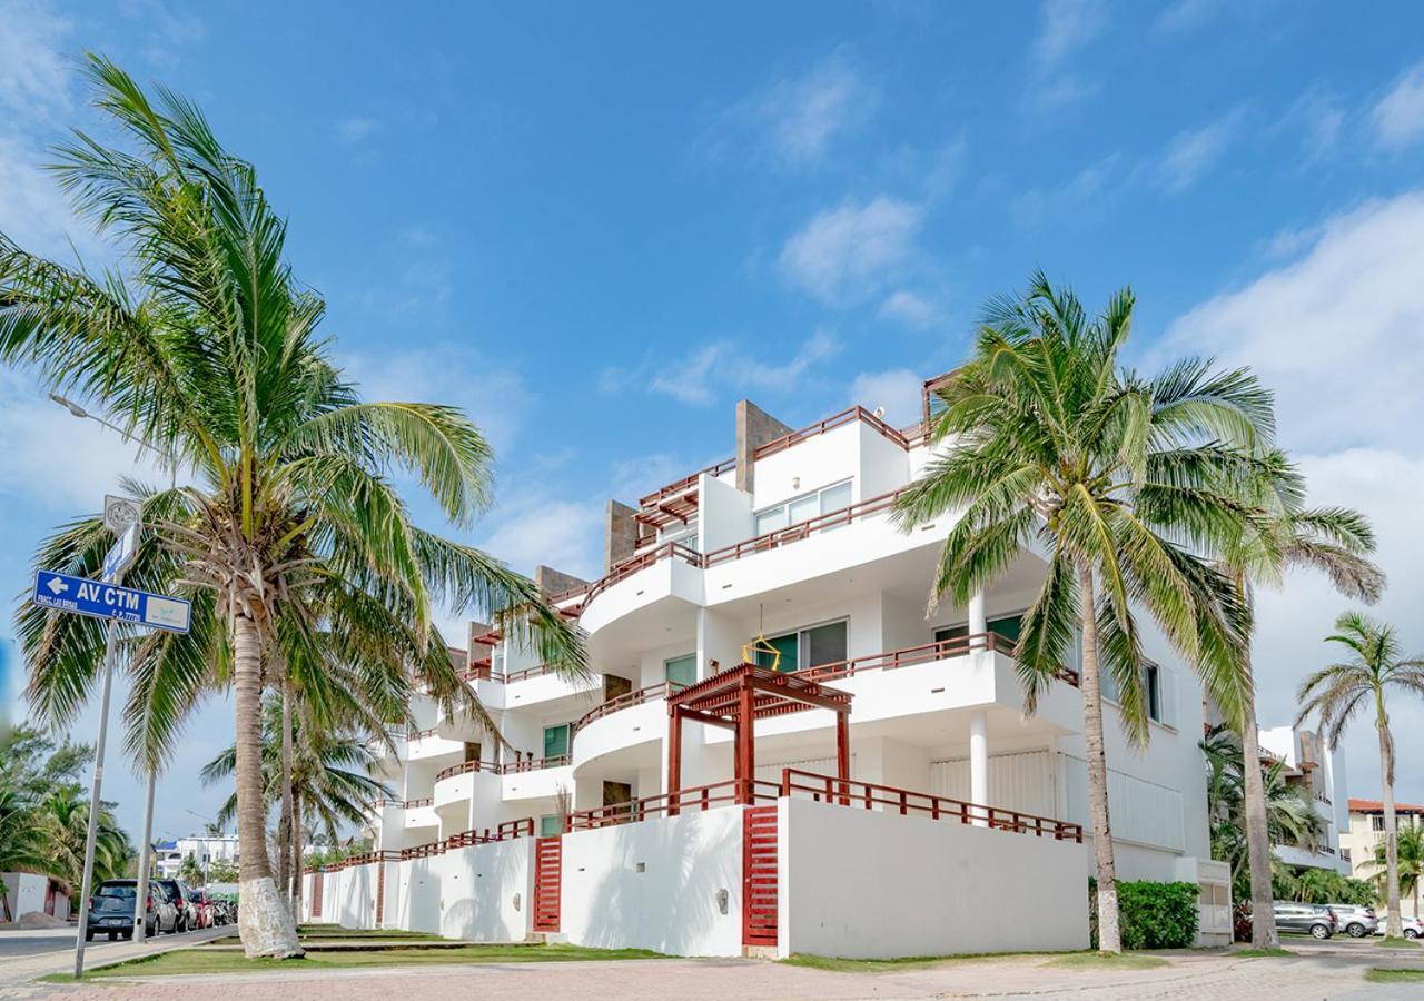
<path id="1" fill-rule="evenodd" d="M 817 212 L 782 246 L 786 279 L 829 305 L 874 295 L 911 259 L 924 211 L 881 195 Z"/>

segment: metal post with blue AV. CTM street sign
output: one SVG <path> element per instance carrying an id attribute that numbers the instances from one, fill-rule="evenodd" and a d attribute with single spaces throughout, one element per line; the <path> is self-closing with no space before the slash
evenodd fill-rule
<path id="1" fill-rule="evenodd" d="M 104 498 L 104 524 L 118 541 L 104 557 L 103 580 L 93 581 L 71 574 L 41 570 L 34 575 L 31 601 L 41 607 L 77 615 L 108 619 L 104 639 L 104 686 L 100 699 L 98 739 L 94 742 L 94 787 L 90 793 L 88 833 L 84 839 L 84 880 L 80 890 L 80 927 L 74 940 L 74 978 L 84 975 L 84 944 L 88 941 L 90 894 L 94 890 L 94 843 L 98 836 L 98 812 L 104 787 L 104 749 L 108 742 L 108 703 L 114 691 L 114 659 L 121 622 L 168 632 L 188 632 L 192 605 L 182 598 L 150 594 L 122 587 L 124 571 L 138 554 L 138 504 L 124 497 Z M 137 921 L 144 920 L 144 900 L 135 906 Z M 135 928 L 137 934 L 137 928 Z"/>

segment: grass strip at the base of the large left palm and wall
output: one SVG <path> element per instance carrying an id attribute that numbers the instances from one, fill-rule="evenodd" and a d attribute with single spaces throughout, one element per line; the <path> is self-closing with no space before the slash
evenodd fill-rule
<path id="1" fill-rule="evenodd" d="M 645 948 L 584 948 L 581 945 L 461 945 L 459 948 L 349 950 L 345 953 L 309 953 L 302 960 L 249 960 L 242 953 L 204 951 L 202 947 L 145 955 L 85 974 L 85 980 L 105 977 L 165 977 L 174 974 L 255 973 L 283 970 L 308 973 L 349 967 L 430 965 L 449 963 L 560 963 L 568 960 L 661 960 L 661 953 Z M 48 984 L 73 982 L 70 974 L 41 977 Z"/>

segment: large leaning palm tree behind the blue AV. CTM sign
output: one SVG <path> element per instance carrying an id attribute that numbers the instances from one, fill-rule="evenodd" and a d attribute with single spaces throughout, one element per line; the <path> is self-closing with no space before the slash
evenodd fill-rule
<path id="1" fill-rule="evenodd" d="M 282 682 L 273 655 L 313 646 L 315 672 L 340 658 L 396 702 L 420 679 L 447 712 L 478 712 L 431 627 L 433 602 L 488 609 L 557 668 L 582 669 L 582 652 L 533 581 L 414 525 L 390 478 L 413 470 L 468 525 L 490 496 L 480 431 L 454 407 L 362 402 L 318 336 L 323 303 L 293 278 L 286 225 L 253 168 L 181 97 L 150 101 L 100 57 L 90 75 L 132 151 L 77 134 L 56 172 L 80 212 L 127 241 L 132 266 L 95 278 L 0 236 L 0 362 L 91 399 L 192 473 L 175 490 L 127 484 L 151 528 L 127 582 L 194 607 L 187 635 L 125 634 L 125 743 L 155 766 L 199 698 L 231 686 L 239 933 L 248 955 L 299 955 L 265 844 L 261 699 Z M 111 541 L 81 518 L 36 561 L 95 575 Z M 28 605 L 17 624 L 30 705 L 48 722 L 73 719 L 95 681 L 103 624 Z M 318 629 L 345 646 L 319 645 Z"/>

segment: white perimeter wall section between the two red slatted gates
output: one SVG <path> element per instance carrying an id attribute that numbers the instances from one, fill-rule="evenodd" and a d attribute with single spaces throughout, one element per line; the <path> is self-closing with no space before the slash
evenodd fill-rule
<path id="1" fill-rule="evenodd" d="M 575 945 L 740 955 L 742 810 L 564 834 L 561 931 Z"/>

